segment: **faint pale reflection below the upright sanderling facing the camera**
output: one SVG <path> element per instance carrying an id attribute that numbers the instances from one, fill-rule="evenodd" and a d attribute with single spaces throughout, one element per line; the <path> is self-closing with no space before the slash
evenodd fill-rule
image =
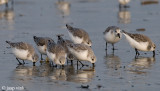
<path id="1" fill-rule="evenodd" d="M 104 57 L 105 59 L 105 64 L 106 67 L 108 69 L 108 74 L 112 75 L 112 76 L 120 76 L 121 72 L 120 72 L 120 68 L 121 68 L 121 59 L 113 54 L 107 54 Z"/>

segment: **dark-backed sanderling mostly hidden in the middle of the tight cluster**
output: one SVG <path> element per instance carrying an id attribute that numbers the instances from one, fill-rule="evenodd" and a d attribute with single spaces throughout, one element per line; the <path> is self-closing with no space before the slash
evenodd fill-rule
<path id="1" fill-rule="evenodd" d="M 72 44 L 73 42 L 67 39 L 63 39 L 62 37 L 63 35 L 57 35 L 58 37 L 58 41 L 57 44 L 62 45 L 62 47 L 65 49 L 66 53 L 67 53 L 67 60 L 71 61 L 71 64 L 73 64 L 73 60 L 75 60 L 75 57 L 69 52 L 67 45 L 68 44 Z M 67 61 L 68 63 L 68 61 Z"/>

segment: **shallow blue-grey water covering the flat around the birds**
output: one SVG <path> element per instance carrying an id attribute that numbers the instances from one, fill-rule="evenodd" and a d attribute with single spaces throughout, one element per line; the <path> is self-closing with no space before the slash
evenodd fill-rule
<path id="1" fill-rule="evenodd" d="M 159 3 L 142 5 L 141 0 L 132 0 L 130 8 L 119 10 L 117 0 L 66 0 L 71 4 L 70 8 L 58 5 L 57 1 L 15 0 L 13 9 L 0 6 L 0 88 L 22 87 L 20 90 L 24 91 L 159 91 Z M 25 41 L 35 47 L 33 35 L 51 37 L 56 41 L 57 34 L 64 34 L 69 39 L 66 23 L 89 33 L 97 57 L 94 69 L 89 63 L 86 63 L 89 67 L 79 67 L 78 70 L 76 65 L 66 65 L 61 69 L 52 68 L 45 62 L 42 65 L 38 62 L 35 67 L 29 61 L 24 66 L 17 65 L 6 40 Z M 157 45 L 155 58 L 152 52 L 140 52 L 140 58 L 135 59 L 135 51 L 124 37 L 115 45 L 118 50 L 113 53 L 109 45 L 106 53 L 103 31 L 110 25 L 149 36 Z M 136 31 L 141 28 L 145 31 Z M 89 85 L 89 88 L 81 88 L 81 85 Z"/>

